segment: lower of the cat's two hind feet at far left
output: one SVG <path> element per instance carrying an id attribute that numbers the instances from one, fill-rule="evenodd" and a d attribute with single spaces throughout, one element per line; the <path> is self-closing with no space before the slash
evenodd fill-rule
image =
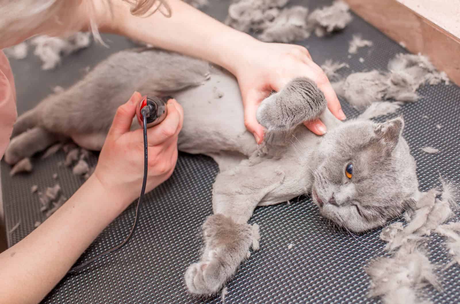
<path id="1" fill-rule="evenodd" d="M 62 135 L 48 132 L 43 128 L 29 129 L 11 140 L 5 151 L 5 161 L 11 165 L 15 164 L 23 158 L 45 150 L 48 146 L 61 139 L 63 139 Z"/>

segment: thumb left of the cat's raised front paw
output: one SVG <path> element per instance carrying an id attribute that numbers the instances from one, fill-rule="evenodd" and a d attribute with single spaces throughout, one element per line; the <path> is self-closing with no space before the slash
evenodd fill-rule
<path id="1" fill-rule="evenodd" d="M 262 92 L 250 90 L 243 98 L 244 105 L 244 125 L 246 129 L 254 135 L 257 144 L 264 140 L 264 127 L 257 121 L 257 109 L 260 102 L 265 98 Z"/>

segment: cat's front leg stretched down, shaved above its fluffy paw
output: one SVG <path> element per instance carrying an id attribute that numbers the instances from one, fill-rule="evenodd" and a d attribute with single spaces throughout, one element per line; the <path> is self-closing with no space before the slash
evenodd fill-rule
<path id="1" fill-rule="evenodd" d="M 245 160 L 220 173 L 213 185 L 213 212 L 203 224 L 204 250 L 198 263 L 189 266 L 185 282 L 190 293 L 217 293 L 249 256 L 259 248 L 257 225 L 247 224 L 254 208 L 280 187 L 284 173 L 270 160 Z"/>

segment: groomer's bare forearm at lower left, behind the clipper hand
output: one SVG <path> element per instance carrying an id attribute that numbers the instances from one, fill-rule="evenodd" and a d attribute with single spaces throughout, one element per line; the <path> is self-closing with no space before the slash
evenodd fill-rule
<path id="1" fill-rule="evenodd" d="M 48 220 L 0 254 L 0 302 L 38 303 L 120 214 L 93 176 Z"/>

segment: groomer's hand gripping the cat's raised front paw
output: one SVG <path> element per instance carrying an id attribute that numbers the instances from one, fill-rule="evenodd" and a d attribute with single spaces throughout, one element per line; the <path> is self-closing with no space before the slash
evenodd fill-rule
<path id="1" fill-rule="evenodd" d="M 240 51 L 241 54 L 245 56 L 239 58 L 231 72 L 238 79 L 242 92 L 246 128 L 253 133 L 258 144 L 264 138 L 264 127 L 256 119 L 260 102 L 272 90 L 280 91 L 295 77 L 312 79 L 324 93 L 331 113 L 340 120 L 346 118 L 326 74 L 312 61 L 305 47 L 257 41 Z M 320 119 L 305 122 L 305 126 L 317 135 L 327 131 Z"/>

